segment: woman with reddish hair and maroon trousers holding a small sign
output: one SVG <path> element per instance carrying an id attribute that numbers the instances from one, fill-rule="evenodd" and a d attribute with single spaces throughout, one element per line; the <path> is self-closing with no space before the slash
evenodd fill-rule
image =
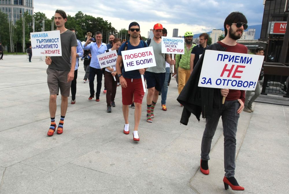
<path id="1" fill-rule="evenodd" d="M 107 52 L 116 50 L 121 46 L 121 40 L 119 38 L 114 38 L 112 40 L 112 48 L 106 50 Z M 115 78 L 114 78 L 115 77 Z M 116 79 L 116 80 L 114 80 Z M 106 112 L 111 112 L 111 107 L 115 107 L 114 97 L 116 94 L 116 84 L 118 82 L 118 76 L 116 76 L 115 65 L 105 68 L 104 71 L 104 81 L 106 82 Z"/>

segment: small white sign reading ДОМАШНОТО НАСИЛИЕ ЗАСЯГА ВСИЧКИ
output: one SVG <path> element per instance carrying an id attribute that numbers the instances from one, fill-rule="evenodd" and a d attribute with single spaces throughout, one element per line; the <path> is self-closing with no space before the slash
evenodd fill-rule
<path id="1" fill-rule="evenodd" d="M 184 54 L 184 38 L 162 36 L 162 53 Z"/>

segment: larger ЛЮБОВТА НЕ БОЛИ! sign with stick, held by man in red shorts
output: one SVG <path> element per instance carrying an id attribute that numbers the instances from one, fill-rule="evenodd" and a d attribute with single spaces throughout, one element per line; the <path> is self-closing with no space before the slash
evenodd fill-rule
<path id="1" fill-rule="evenodd" d="M 121 51 L 121 56 L 123 57 L 123 66 L 125 71 L 132 71 L 157 65 L 155 63 L 153 47 Z M 146 92 L 143 75 L 141 75 L 141 78 L 144 92 Z"/>

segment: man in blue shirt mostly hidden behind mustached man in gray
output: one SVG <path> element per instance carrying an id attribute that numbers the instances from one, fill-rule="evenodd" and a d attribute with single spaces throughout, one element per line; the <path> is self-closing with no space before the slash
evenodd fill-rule
<path id="1" fill-rule="evenodd" d="M 69 29 L 71 32 L 75 33 L 75 29 L 71 28 Z M 74 69 L 74 78 L 71 81 L 71 104 L 75 104 L 75 95 L 76 95 L 76 79 L 77 79 L 77 70 L 78 70 L 78 61 L 79 57 L 83 56 L 83 49 L 81 45 L 81 41 L 77 39 L 77 47 L 76 47 L 76 63 L 75 63 L 75 69 Z"/>

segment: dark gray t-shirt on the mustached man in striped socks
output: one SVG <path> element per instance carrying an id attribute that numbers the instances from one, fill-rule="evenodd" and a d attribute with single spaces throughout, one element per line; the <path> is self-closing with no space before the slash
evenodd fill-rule
<path id="1" fill-rule="evenodd" d="M 70 70 L 71 69 L 71 47 L 77 47 L 77 40 L 74 32 L 66 30 L 60 34 L 62 56 L 51 56 L 50 69 Z"/>

